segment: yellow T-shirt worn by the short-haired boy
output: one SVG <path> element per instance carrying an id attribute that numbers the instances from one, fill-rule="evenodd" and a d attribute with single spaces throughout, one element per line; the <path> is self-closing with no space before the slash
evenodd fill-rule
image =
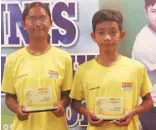
<path id="1" fill-rule="evenodd" d="M 87 109 L 95 113 L 98 97 L 123 98 L 123 113 L 138 106 L 139 97 L 151 91 L 151 83 L 145 67 L 132 59 L 121 56 L 111 67 L 104 67 L 95 59 L 80 65 L 75 73 L 70 97 L 85 100 Z M 107 107 L 107 106 L 105 106 Z M 105 121 L 101 127 L 90 124 L 87 130 L 138 130 L 138 116 L 134 116 L 129 126 L 116 126 Z"/>

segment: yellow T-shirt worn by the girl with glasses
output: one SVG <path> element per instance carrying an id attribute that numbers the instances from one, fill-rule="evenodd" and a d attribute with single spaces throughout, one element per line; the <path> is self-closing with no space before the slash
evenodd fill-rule
<path id="1" fill-rule="evenodd" d="M 72 60 L 63 50 L 51 47 L 47 53 L 33 56 L 23 48 L 7 57 L 2 91 L 16 94 L 19 105 L 25 104 L 27 90 L 48 88 L 51 90 L 49 95 L 55 102 L 61 99 L 61 91 L 70 90 L 71 85 Z M 15 117 L 12 126 L 12 130 L 68 129 L 65 116 L 58 118 L 52 112 L 30 113 L 25 121 L 19 121 Z"/>

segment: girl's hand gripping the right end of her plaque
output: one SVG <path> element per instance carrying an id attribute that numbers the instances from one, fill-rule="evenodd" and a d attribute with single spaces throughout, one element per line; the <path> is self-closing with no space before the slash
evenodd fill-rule
<path id="1" fill-rule="evenodd" d="M 52 112 L 56 117 L 64 116 L 64 106 L 61 101 L 54 103 L 54 107 L 56 107 L 56 110 Z"/>

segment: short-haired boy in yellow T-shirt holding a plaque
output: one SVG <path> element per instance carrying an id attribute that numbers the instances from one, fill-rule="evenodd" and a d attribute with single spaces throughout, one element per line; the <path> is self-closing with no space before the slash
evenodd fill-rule
<path id="1" fill-rule="evenodd" d="M 122 21 L 115 10 L 100 10 L 92 19 L 99 55 L 77 68 L 70 93 L 72 107 L 88 118 L 87 130 L 138 130 L 138 114 L 153 105 L 145 67 L 118 53 Z"/>

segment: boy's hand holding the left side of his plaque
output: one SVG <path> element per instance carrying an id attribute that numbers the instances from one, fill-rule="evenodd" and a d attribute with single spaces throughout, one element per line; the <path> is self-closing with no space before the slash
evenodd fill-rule
<path id="1" fill-rule="evenodd" d="M 101 126 L 104 123 L 103 119 L 97 118 L 94 114 L 88 114 L 88 122 L 91 126 Z"/>

